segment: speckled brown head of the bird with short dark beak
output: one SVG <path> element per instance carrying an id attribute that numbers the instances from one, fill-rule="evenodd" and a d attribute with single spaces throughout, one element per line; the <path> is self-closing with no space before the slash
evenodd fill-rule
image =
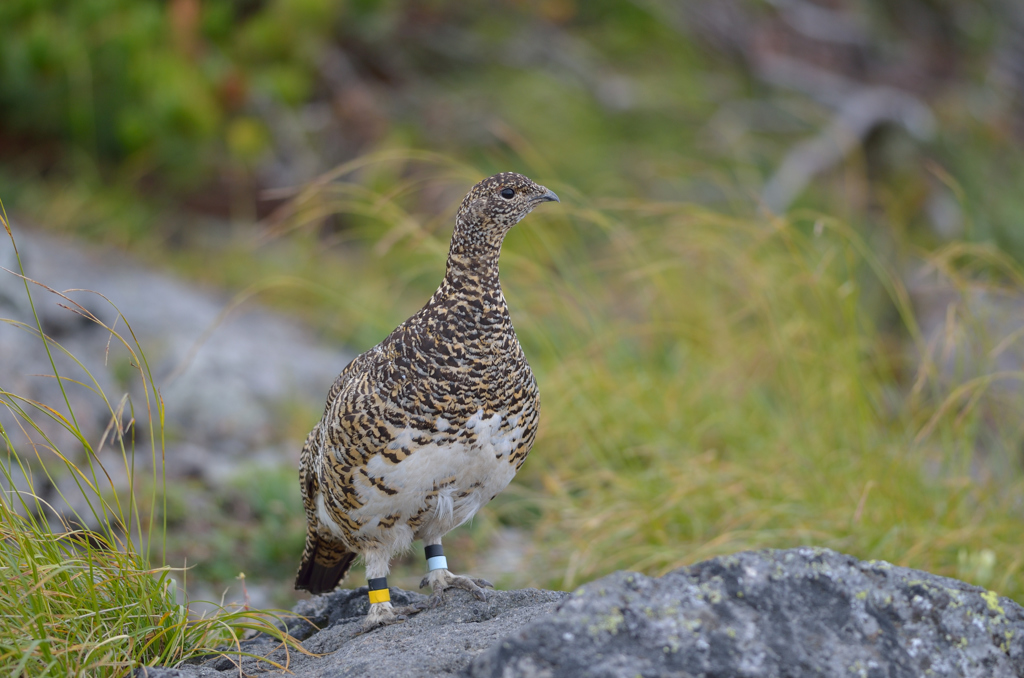
<path id="1" fill-rule="evenodd" d="M 498 245 L 505 235 L 541 203 L 559 202 L 558 196 L 522 174 L 502 172 L 470 189 L 459 207 L 456 230 L 475 235 Z M 475 234 L 473 231 L 476 231 Z"/>

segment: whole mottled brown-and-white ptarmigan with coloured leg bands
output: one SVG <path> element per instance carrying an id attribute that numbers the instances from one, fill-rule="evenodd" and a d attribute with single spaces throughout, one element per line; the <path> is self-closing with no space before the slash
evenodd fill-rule
<path id="1" fill-rule="evenodd" d="M 558 196 L 504 172 L 480 181 L 456 217 L 444 280 L 427 304 L 335 380 L 299 464 L 307 531 L 297 589 L 333 590 L 361 554 L 371 629 L 393 608 L 391 557 L 423 540 L 433 589 L 484 598 L 488 582 L 453 575 L 441 538 L 512 480 L 534 444 L 540 393 L 498 280 L 505 235 Z"/>

